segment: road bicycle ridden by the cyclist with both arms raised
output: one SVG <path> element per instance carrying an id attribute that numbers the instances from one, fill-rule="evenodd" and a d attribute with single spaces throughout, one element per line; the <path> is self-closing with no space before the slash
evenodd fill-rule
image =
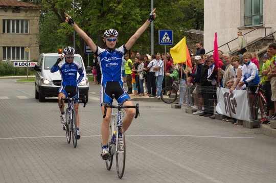
<path id="1" fill-rule="evenodd" d="M 113 98 L 114 98 L 114 95 L 112 95 L 112 99 Z M 107 170 L 110 170 L 111 166 L 112 166 L 113 155 L 116 155 L 117 174 L 118 174 L 119 178 L 122 178 L 124 175 L 124 171 L 125 171 L 126 141 L 125 141 L 124 128 L 122 127 L 121 110 L 123 108 L 135 108 L 136 114 L 135 114 L 134 118 L 137 118 L 138 115 L 140 116 L 139 104 L 136 104 L 134 106 L 128 106 L 128 105 L 122 105 L 122 104 L 118 104 L 118 105 L 106 104 L 106 105 L 104 105 L 103 118 L 105 118 L 105 116 L 106 116 L 106 110 L 108 107 L 111 108 L 111 120 L 110 120 L 110 124 L 109 124 L 110 134 L 109 134 L 109 138 L 108 138 L 108 149 L 109 149 L 110 156 L 105 161 L 105 165 L 106 165 Z M 113 113 L 113 108 L 117 108 L 118 112 Z M 114 129 L 115 126 L 116 126 L 116 129 Z"/>

